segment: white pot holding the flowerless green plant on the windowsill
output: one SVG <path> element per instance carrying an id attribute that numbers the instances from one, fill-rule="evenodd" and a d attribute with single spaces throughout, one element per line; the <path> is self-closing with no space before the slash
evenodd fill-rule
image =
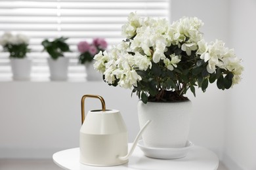
<path id="1" fill-rule="evenodd" d="M 49 69 L 50 69 L 50 79 L 51 80 L 67 80 L 68 79 L 68 63 L 69 59 L 60 57 L 58 59 L 47 58 Z"/>

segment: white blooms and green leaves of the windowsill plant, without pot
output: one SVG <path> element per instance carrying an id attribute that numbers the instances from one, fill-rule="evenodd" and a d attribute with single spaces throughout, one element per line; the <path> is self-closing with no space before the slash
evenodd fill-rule
<path id="1" fill-rule="evenodd" d="M 2 35 L 0 44 L 5 52 L 10 53 L 10 58 L 26 58 L 27 52 L 30 52 L 29 41 L 30 39 L 26 35 L 20 33 L 13 35 L 6 32 Z"/>

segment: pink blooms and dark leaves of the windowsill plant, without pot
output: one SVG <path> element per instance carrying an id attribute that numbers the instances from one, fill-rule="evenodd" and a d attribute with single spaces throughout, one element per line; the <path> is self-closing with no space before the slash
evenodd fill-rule
<path id="1" fill-rule="evenodd" d="M 96 38 L 89 44 L 87 41 L 81 41 L 77 44 L 79 55 L 79 63 L 84 64 L 93 61 L 95 54 L 100 50 L 106 50 L 108 43 L 104 39 Z"/>

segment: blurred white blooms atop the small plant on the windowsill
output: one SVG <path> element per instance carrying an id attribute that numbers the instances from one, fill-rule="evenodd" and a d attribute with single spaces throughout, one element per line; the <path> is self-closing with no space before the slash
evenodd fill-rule
<path id="1" fill-rule="evenodd" d="M 28 44 L 29 39 L 23 34 L 12 35 L 12 33 L 6 32 L 2 35 L 0 39 L 0 44 L 6 46 L 7 44 L 18 45 L 18 44 Z"/>

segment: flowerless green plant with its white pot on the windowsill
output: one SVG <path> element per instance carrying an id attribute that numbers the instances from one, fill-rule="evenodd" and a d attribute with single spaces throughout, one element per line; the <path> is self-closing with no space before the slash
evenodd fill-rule
<path id="1" fill-rule="evenodd" d="M 64 52 L 70 52 L 69 45 L 65 42 L 68 38 L 59 37 L 53 41 L 45 39 L 41 44 L 50 58 L 47 58 L 51 73 L 51 80 L 66 80 L 68 78 L 69 59 L 64 58 Z"/>

